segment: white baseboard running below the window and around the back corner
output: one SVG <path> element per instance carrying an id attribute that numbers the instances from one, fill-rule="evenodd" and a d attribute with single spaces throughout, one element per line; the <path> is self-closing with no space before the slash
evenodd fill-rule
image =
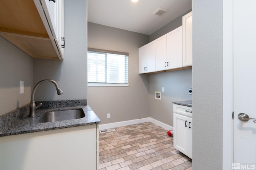
<path id="1" fill-rule="evenodd" d="M 121 126 L 128 126 L 128 125 L 134 125 L 138 123 L 145 123 L 145 122 L 151 122 L 154 123 L 166 130 L 173 130 L 173 127 L 170 125 L 167 125 L 165 123 L 162 123 L 156 119 L 153 119 L 151 117 L 146 117 L 146 118 L 141 118 L 141 119 L 133 119 L 133 120 L 128 120 L 128 121 L 119 121 L 115 123 L 107 123 L 107 124 L 99 124 L 99 130 L 104 130 L 104 129 L 112 129 L 115 127 L 121 127 Z"/>

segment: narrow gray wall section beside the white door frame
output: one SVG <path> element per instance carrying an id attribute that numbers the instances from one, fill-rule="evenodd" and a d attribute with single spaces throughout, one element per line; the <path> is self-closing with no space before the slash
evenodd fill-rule
<path id="1" fill-rule="evenodd" d="M 194 170 L 220 170 L 222 169 L 222 0 L 193 0 L 192 9 L 192 166 Z"/>

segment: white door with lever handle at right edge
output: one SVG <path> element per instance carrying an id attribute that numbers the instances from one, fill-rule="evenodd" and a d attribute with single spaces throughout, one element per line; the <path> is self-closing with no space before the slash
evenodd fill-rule
<path id="1" fill-rule="evenodd" d="M 256 0 L 234 3 L 234 164 L 256 169 L 256 123 L 241 121 L 239 113 L 256 118 Z M 242 118 L 241 118 L 242 119 Z"/>

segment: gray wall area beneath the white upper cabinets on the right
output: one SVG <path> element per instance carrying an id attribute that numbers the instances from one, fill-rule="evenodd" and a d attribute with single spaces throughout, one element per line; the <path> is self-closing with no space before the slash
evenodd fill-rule
<path id="1" fill-rule="evenodd" d="M 192 69 L 150 74 L 150 117 L 173 126 L 172 102 L 192 100 L 188 88 L 192 88 Z M 155 99 L 155 91 L 161 92 L 161 100 Z"/>

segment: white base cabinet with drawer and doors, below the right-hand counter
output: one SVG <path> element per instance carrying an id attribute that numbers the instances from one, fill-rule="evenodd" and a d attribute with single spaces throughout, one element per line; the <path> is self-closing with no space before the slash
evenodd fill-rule
<path id="1" fill-rule="evenodd" d="M 192 107 L 174 104 L 173 113 L 173 145 L 174 147 L 192 158 Z"/>

